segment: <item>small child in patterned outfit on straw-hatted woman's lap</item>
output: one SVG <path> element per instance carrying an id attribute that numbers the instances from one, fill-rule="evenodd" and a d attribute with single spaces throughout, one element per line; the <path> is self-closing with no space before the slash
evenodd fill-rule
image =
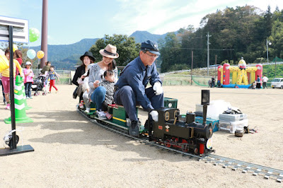
<path id="1" fill-rule="evenodd" d="M 115 75 L 113 71 L 104 72 L 104 80 L 100 83 L 106 89 L 105 100 L 102 104 L 101 110 L 104 112 L 105 117 L 108 119 L 112 118 L 112 115 L 108 112 L 108 105 L 114 103 L 114 85 L 115 85 Z"/>

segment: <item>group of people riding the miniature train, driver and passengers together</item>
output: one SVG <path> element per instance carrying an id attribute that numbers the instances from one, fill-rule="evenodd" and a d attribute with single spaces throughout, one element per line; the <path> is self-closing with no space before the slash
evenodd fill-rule
<path id="1" fill-rule="evenodd" d="M 137 136 L 140 121 L 136 106 L 141 105 L 152 119 L 157 116 L 154 109 L 163 107 L 162 82 L 154 64 L 160 55 L 158 45 L 151 40 L 142 42 L 139 57 L 125 66 L 119 80 L 115 61 L 119 57 L 117 47 L 108 44 L 99 53 L 102 60 L 97 63 L 94 63 L 95 57 L 91 52 L 83 54 L 80 58 L 82 64 L 72 79 L 77 86 L 75 94 L 79 96 L 79 107 L 83 108 L 84 102 L 85 112 L 89 112 L 90 102 L 93 102 L 99 119 L 111 119 L 108 105 L 123 105 L 131 120 L 129 134 Z M 151 84 L 149 88 L 146 87 L 148 83 Z"/>

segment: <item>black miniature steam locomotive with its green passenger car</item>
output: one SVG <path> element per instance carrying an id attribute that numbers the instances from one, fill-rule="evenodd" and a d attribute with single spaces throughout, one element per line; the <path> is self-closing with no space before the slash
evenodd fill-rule
<path id="1" fill-rule="evenodd" d="M 140 137 L 155 141 L 168 148 L 177 148 L 183 152 L 195 155 L 207 155 L 212 152 L 212 124 L 206 124 L 207 105 L 209 105 L 209 90 L 202 90 L 203 123 L 195 122 L 195 114 L 180 114 L 177 108 L 161 108 L 158 112 L 158 121 L 149 118 L 139 127 Z M 79 108 L 78 108 L 79 109 Z M 138 108 L 136 109 L 138 112 Z M 81 110 L 83 112 L 83 110 Z M 98 119 L 96 105 L 91 103 L 91 112 L 87 116 L 97 122 L 118 127 L 124 131 L 130 125 L 127 113 L 121 105 L 108 105 L 108 112 L 112 119 Z"/>

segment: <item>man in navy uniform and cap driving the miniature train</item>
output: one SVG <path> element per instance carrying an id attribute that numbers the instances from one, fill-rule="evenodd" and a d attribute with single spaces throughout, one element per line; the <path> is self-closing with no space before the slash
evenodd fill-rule
<path id="1" fill-rule="evenodd" d="M 139 135 L 140 122 L 137 118 L 136 105 L 141 105 L 148 112 L 163 107 L 163 88 L 154 64 L 158 55 L 160 53 L 156 42 L 142 42 L 139 57 L 125 66 L 115 84 L 114 100 L 116 104 L 125 107 L 131 119 L 131 136 Z M 152 87 L 146 88 L 147 83 Z"/>

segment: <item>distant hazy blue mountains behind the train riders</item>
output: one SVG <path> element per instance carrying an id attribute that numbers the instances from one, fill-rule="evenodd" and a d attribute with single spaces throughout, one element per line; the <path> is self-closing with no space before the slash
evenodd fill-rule
<path id="1" fill-rule="evenodd" d="M 145 40 L 154 40 L 158 41 L 160 39 L 164 39 L 166 34 L 163 35 L 155 35 L 151 34 L 147 31 L 135 31 L 129 37 L 134 37 L 136 42 L 144 42 Z M 79 42 L 70 45 L 48 45 L 48 61 L 52 62 L 52 65 L 55 66 L 56 69 L 66 69 L 66 70 L 74 70 L 74 66 L 79 61 L 79 57 L 88 51 L 92 45 L 96 43 L 98 38 L 94 39 L 83 39 Z M 40 50 L 40 46 L 30 47 L 30 49 L 34 49 L 35 52 Z"/>

